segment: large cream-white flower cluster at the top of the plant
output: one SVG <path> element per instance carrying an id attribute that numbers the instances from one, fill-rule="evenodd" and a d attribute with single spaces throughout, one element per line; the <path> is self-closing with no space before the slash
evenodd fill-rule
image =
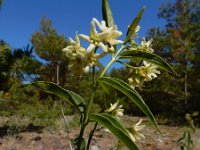
<path id="1" fill-rule="evenodd" d="M 100 31 L 97 30 L 97 27 Z M 105 21 L 99 22 L 93 18 L 91 21 L 90 35 L 79 34 L 76 35 L 75 41 L 69 39 L 69 45 L 63 49 L 66 52 L 66 56 L 70 60 L 70 67 L 75 65 L 81 66 L 81 70 L 88 72 L 92 66 L 102 68 L 99 59 L 105 56 L 107 53 L 115 51 L 114 46 L 123 43 L 123 41 L 117 40 L 122 32 L 118 31 L 117 26 L 107 27 Z M 87 49 L 81 46 L 79 37 L 87 42 L 89 46 Z M 102 52 L 98 54 L 97 48 L 101 48 Z"/>

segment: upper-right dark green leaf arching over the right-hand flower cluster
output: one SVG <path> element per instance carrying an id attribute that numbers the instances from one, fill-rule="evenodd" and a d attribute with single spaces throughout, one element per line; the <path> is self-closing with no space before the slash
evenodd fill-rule
<path id="1" fill-rule="evenodd" d="M 143 60 L 146 60 L 148 62 L 151 62 L 155 64 L 156 66 L 160 67 L 161 69 L 171 72 L 174 75 L 177 75 L 174 69 L 160 56 L 149 53 L 147 51 L 142 50 L 127 50 L 120 54 L 120 59 L 134 59 L 134 58 L 140 58 Z"/>

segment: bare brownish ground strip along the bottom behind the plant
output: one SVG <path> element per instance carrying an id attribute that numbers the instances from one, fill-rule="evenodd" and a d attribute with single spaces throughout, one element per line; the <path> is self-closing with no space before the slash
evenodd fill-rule
<path id="1" fill-rule="evenodd" d="M 139 120 L 138 117 L 127 117 L 122 119 L 125 126 L 129 126 Z M 138 141 L 142 150 L 179 150 L 176 141 L 183 135 L 185 128 L 176 126 L 159 125 L 163 135 L 160 135 L 151 125 L 148 124 L 146 118 L 143 118 L 146 128 L 142 131 L 145 139 Z M 91 129 L 89 127 L 88 131 Z M 98 147 L 100 150 L 113 149 L 117 144 L 117 140 L 105 129 L 98 127 L 95 132 L 91 148 Z M 86 131 L 86 133 L 88 133 Z M 78 129 L 73 128 L 67 134 L 64 131 L 50 130 L 29 130 L 19 132 L 14 135 L 3 135 L 0 137 L 0 150 L 68 150 L 69 138 L 78 135 Z M 194 150 L 200 150 L 200 129 L 192 135 L 194 141 Z M 126 149 L 122 147 L 121 149 Z M 96 149 L 95 149 L 96 150 Z"/>

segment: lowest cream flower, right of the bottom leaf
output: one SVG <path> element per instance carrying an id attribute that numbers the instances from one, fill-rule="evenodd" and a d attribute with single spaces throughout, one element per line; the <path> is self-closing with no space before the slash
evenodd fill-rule
<path id="1" fill-rule="evenodd" d="M 141 122 L 142 122 L 142 119 L 140 119 L 139 122 L 134 124 L 132 127 L 128 128 L 129 136 L 133 142 L 135 142 L 136 140 L 141 140 L 145 138 L 143 134 L 138 132 L 145 127 L 145 125 L 140 125 Z"/>

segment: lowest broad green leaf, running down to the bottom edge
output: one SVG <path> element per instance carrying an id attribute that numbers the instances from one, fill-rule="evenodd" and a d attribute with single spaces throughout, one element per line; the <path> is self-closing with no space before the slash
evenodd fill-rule
<path id="1" fill-rule="evenodd" d="M 115 135 L 130 150 L 139 150 L 137 145 L 131 140 L 128 131 L 111 115 L 106 113 L 91 114 L 91 121 L 98 122 Z"/>

